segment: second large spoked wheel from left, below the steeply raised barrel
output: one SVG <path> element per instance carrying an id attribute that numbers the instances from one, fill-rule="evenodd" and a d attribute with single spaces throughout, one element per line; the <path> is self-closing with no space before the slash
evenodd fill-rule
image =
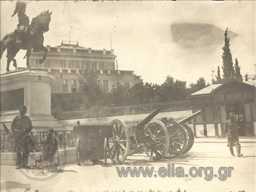
<path id="1" fill-rule="evenodd" d="M 144 128 L 143 149 L 152 160 L 162 159 L 169 149 L 169 136 L 166 126 L 160 120 L 151 120 Z"/>

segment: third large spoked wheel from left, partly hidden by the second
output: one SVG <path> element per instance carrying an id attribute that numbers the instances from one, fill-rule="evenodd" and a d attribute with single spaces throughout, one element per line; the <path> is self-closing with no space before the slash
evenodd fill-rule
<path id="1" fill-rule="evenodd" d="M 168 120 L 166 127 L 169 132 L 170 145 L 165 158 L 169 159 L 181 155 L 186 150 L 187 135 L 183 126 L 173 120 Z"/>

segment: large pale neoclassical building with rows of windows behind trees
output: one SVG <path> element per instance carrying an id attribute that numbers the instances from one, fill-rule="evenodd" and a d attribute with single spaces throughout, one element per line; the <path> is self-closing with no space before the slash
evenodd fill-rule
<path id="1" fill-rule="evenodd" d="M 78 88 L 79 69 L 93 69 L 98 75 L 98 85 L 104 92 L 111 92 L 113 85 L 131 88 L 143 82 L 134 71 L 115 68 L 114 50 L 94 50 L 79 46 L 78 42 L 62 41 L 60 46 L 47 46 L 44 63 L 39 64 L 44 52 L 31 52 L 30 65 L 41 68 L 55 77 L 51 83 L 52 93 L 72 93 Z"/>

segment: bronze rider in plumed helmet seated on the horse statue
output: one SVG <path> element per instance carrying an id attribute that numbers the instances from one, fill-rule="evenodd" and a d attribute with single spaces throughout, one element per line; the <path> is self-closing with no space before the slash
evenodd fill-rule
<path id="1" fill-rule="evenodd" d="M 26 15 L 26 3 L 17 1 L 12 17 L 18 13 L 19 23 L 17 24 L 17 40 L 18 47 L 25 46 L 25 42 L 29 39 L 29 17 Z"/>

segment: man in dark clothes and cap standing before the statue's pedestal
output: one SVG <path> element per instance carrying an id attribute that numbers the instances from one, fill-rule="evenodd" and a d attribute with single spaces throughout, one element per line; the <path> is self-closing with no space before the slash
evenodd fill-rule
<path id="1" fill-rule="evenodd" d="M 19 107 L 20 115 L 14 117 L 12 120 L 12 135 L 14 138 L 14 142 L 17 143 L 19 136 L 23 132 L 30 132 L 32 130 L 32 122 L 28 116 L 26 116 L 26 106 L 20 106 Z M 22 152 L 22 155 L 21 155 Z M 28 166 L 28 156 L 26 150 L 24 150 L 22 147 L 19 145 L 16 145 L 16 164 L 17 164 L 17 169 L 20 168 L 29 168 Z"/>

